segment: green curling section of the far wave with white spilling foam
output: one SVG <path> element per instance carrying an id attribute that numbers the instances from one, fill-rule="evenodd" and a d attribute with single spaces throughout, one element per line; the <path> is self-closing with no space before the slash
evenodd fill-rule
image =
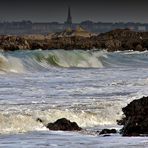
<path id="1" fill-rule="evenodd" d="M 53 50 L 48 53 L 36 53 L 34 59 L 40 63 L 47 63 L 50 66 L 57 67 L 82 67 L 82 68 L 100 68 L 103 67 L 101 61 L 90 52 L 87 51 L 65 51 Z"/>

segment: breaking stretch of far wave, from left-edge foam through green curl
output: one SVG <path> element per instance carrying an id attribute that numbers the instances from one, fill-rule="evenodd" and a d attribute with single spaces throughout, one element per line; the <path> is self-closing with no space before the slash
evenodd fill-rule
<path id="1" fill-rule="evenodd" d="M 101 68 L 93 53 L 81 50 L 15 51 L 0 54 L 0 71 L 25 72 L 51 67 Z"/>

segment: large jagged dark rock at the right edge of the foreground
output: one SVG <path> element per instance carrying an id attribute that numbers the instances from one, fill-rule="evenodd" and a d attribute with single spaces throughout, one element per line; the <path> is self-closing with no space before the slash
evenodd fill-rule
<path id="1" fill-rule="evenodd" d="M 123 109 L 125 117 L 118 123 L 124 125 L 123 136 L 139 136 L 148 134 L 148 97 L 132 101 Z"/>

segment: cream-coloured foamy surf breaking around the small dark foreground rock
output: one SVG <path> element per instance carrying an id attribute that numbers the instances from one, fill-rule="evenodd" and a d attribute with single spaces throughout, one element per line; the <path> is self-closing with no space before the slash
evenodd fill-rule
<path id="1" fill-rule="evenodd" d="M 23 106 L 22 110 L 21 106 L 17 106 L 14 110 L 14 106 L 11 106 L 0 113 L 0 134 L 48 130 L 45 126 L 49 122 L 55 122 L 60 118 L 77 122 L 84 129 L 102 125 L 116 125 L 116 120 L 122 115 L 122 106 L 123 102 L 121 101 L 116 103 L 114 101 L 103 101 L 94 105 L 73 106 L 75 109 L 51 108 L 41 110 L 33 106 Z M 96 111 L 91 111 L 89 108 L 94 108 Z M 43 123 L 38 122 L 38 118 Z"/>

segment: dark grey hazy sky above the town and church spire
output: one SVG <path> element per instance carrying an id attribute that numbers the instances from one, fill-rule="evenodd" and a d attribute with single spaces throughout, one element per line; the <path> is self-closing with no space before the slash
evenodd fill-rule
<path id="1" fill-rule="evenodd" d="M 0 21 L 64 22 L 69 5 L 73 22 L 148 23 L 148 0 L 0 0 Z"/>

